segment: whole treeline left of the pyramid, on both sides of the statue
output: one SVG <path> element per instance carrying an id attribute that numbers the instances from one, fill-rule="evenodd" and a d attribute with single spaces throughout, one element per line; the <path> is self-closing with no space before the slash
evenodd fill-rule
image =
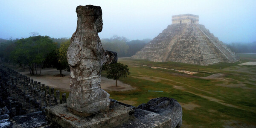
<path id="1" fill-rule="evenodd" d="M 140 51 L 150 39 L 129 41 L 125 37 L 114 35 L 102 39 L 105 50 L 117 52 L 119 57 L 128 57 Z M 9 40 L 0 38 L 0 62 L 5 61 L 29 69 L 31 75 L 41 74 L 41 69 L 53 67 L 60 71 L 69 71 L 67 48 L 70 38 L 50 38 L 34 34 L 29 38 Z"/>

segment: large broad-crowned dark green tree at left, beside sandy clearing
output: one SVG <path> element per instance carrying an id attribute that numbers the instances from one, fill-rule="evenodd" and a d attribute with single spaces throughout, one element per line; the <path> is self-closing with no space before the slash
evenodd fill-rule
<path id="1" fill-rule="evenodd" d="M 42 68 L 47 55 L 55 50 L 56 47 L 57 44 L 53 43 L 48 36 L 38 35 L 25 39 L 21 38 L 15 42 L 15 49 L 11 55 L 17 64 L 27 65 L 30 74 L 35 75 L 35 70 L 37 74 L 38 67 Z"/>

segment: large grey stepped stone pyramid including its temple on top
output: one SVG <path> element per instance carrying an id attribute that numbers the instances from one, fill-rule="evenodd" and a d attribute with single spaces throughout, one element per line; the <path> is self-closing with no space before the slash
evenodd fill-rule
<path id="1" fill-rule="evenodd" d="M 236 62 L 238 58 L 192 14 L 172 16 L 172 24 L 132 58 L 209 65 Z"/>

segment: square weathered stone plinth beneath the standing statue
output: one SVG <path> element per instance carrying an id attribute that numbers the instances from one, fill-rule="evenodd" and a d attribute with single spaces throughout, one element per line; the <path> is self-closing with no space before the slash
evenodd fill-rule
<path id="1" fill-rule="evenodd" d="M 66 104 L 61 104 L 47 108 L 46 116 L 52 125 L 58 124 L 63 128 L 99 128 L 99 126 L 113 128 L 133 119 L 134 110 L 111 102 L 110 111 L 96 113 L 89 117 L 80 117 L 70 113 Z"/>

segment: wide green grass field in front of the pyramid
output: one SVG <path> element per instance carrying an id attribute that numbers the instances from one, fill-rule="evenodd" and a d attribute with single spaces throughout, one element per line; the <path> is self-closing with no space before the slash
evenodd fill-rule
<path id="1" fill-rule="evenodd" d="M 183 108 L 183 128 L 254 128 L 256 66 L 237 64 L 256 61 L 256 54 L 239 56 L 239 62 L 210 66 L 119 59 L 119 62 L 129 66 L 131 72 L 130 76 L 120 80 L 136 90 L 108 93 L 112 99 L 134 106 L 146 103 L 152 98 L 174 98 Z M 151 69 L 145 65 L 188 70 L 198 74 L 186 75 L 173 70 Z M 105 76 L 104 72 L 102 76 Z"/>

